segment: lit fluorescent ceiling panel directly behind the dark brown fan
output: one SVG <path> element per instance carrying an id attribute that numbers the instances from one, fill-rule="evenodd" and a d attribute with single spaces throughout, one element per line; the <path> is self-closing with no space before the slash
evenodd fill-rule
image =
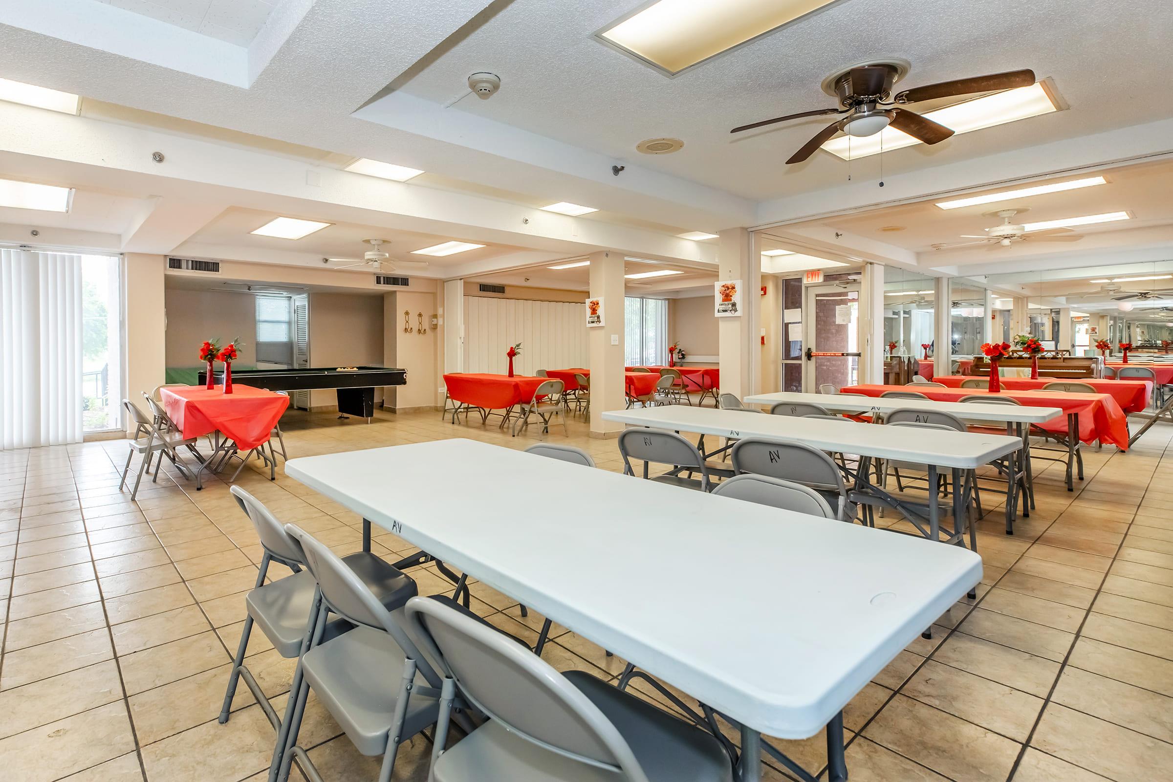
<path id="1" fill-rule="evenodd" d="M 940 122 L 947 128 L 951 128 L 954 134 L 961 135 L 1058 110 L 1059 107 L 1051 100 L 1050 94 L 1043 89 L 1043 82 L 1038 82 L 1030 87 L 1008 89 L 994 95 L 986 95 L 985 97 L 965 101 L 964 103 L 947 106 L 936 111 L 927 111 L 924 116 L 934 122 Z M 856 157 L 867 157 L 868 155 L 877 155 L 881 151 L 888 152 L 920 143 L 908 134 L 888 127 L 874 136 L 839 136 L 828 141 L 822 148 L 832 155 L 838 155 L 845 161 L 850 161 Z"/>

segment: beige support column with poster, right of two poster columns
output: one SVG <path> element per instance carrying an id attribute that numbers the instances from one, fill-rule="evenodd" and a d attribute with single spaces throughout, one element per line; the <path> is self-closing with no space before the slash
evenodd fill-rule
<path id="1" fill-rule="evenodd" d="M 741 280 L 741 314 L 718 319 L 720 387 L 740 397 L 760 386 L 761 254 L 746 229 L 727 229 L 719 236 L 717 279 Z"/>

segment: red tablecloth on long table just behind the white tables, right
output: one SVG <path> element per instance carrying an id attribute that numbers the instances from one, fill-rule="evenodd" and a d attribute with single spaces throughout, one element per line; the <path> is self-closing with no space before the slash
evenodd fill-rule
<path id="1" fill-rule="evenodd" d="M 845 393 L 880 396 L 889 390 L 915 390 L 937 402 L 957 402 L 970 394 L 989 394 L 981 388 L 909 388 L 907 386 L 847 386 Z M 1065 413 L 1079 414 L 1079 438 L 1083 442 L 1096 442 L 1118 446 L 1120 450 L 1128 448 L 1128 422 L 1124 410 L 1110 394 L 1062 394 L 1056 392 L 1010 390 L 1003 396 L 1017 400 L 1030 407 L 1059 407 Z M 1065 417 L 1055 417 L 1046 423 L 1037 424 L 1047 431 L 1066 431 Z"/>

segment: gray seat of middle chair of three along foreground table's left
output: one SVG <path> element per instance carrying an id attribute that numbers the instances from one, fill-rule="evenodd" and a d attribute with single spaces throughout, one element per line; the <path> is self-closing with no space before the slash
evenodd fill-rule
<path id="1" fill-rule="evenodd" d="M 404 662 L 404 651 L 386 632 L 355 627 L 306 652 L 301 669 L 354 747 L 364 755 L 381 755 L 395 715 Z M 404 739 L 436 721 L 439 700 L 419 692 L 427 686 L 416 673 L 400 734 Z"/>

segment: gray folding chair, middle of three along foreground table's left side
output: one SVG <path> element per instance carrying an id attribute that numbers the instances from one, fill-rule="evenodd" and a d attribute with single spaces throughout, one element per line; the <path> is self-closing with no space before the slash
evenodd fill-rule
<path id="1" fill-rule="evenodd" d="M 306 651 L 298 661 L 286 710 L 284 741 L 278 742 L 278 782 L 286 782 L 298 760 L 311 778 L 317 769 L 297 743 L 310 689 L 362 755 L 382 755 L 379 782 L 388 782 L 399 744 L 428 726 L 440 712 L 440 676 L 420 653 L 404 626 L 404 608 L 394 612 L 325 544 L 294 524 L 285 531 L 297 540 L 320 596 L 311 620 Z M 325 640 L 330 614 L 354 625 L 350 632 Z M 272 778 L 272 769 L 270 769 Z"/>

